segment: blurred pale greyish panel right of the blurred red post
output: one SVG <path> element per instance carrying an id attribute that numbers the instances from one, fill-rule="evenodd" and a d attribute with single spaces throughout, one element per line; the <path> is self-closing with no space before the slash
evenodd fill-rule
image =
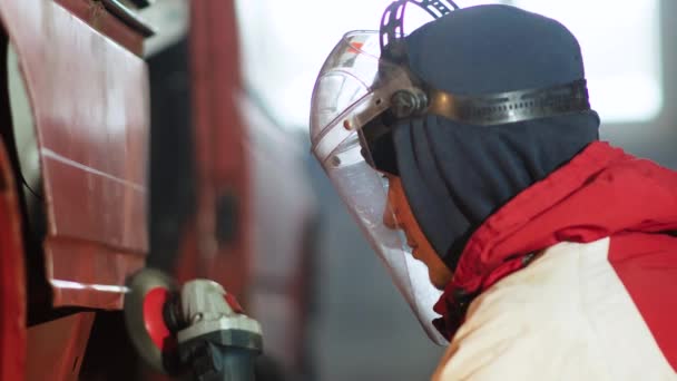
<path id="1" fill-rule="evenodd" d="M 266 353 L 291 374 L 303 367 L 306 295 L 313 286 L 307 247 L 315 199 L 304 172 L 305 147 L 246 97 L 246 150 L 253 170 L 252 281 L 249 312 L 264 328 Z M 275 313 L 271 313 L 275 311 Z"/>

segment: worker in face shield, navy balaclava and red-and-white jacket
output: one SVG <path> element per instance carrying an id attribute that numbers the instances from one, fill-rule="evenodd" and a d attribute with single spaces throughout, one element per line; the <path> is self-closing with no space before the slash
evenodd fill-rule
<path id="1" fill-rule="evenodd" d="M 434 21 L 406 35 L 408 3 Z M 677 174 L 599 140 L 561 23 L 449 3 L 346 33 L 311 114 L 315 157 L 448 342 L 432 378 L 677 380 Z"/>

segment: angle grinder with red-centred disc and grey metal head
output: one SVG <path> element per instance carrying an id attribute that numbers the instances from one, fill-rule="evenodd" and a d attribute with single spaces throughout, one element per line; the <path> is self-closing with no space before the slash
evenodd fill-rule
<path id="1" fill-rule="evenodd" d="M 125 322 L 139 355 L 169 374 L 199 381 L 253 381 L 263 350 L 261 324 L 209 280 L 178 286 L 156 270 L 127 282 Z"/>

